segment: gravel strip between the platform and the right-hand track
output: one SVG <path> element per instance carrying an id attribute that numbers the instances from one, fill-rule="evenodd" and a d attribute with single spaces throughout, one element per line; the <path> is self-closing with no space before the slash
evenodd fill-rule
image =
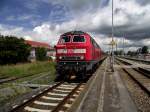
<path id="1" fill-rule="evenodd" d="M 121 77 L 130 92 L 139 112 L 150 112 L 150 97 L 126 73 L 120 70 Z"/>

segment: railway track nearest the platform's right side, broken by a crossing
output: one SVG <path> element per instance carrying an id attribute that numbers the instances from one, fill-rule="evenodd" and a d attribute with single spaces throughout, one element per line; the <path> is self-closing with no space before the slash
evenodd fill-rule
<path id="1" fill-rule="evenodd" d="M 119 65 L 131 65 L 125 61 L 121 61 L 118 59 L 116 60 L 116 63 Z M 150 77 L 148 74 L 145 74 L 140 69 L 132 67 L 126 68 L 122 66 L 122 69 L 141 87 L 142 90 L 144 90 L 150 96 Z"/>

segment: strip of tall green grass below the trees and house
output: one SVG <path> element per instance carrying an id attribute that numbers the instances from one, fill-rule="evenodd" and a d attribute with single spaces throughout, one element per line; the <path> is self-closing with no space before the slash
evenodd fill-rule
<path id="1" fill-rule="evenodd" d="M 23 77 L 32 74 L 55 71 L 54 62 L 34 62 L 17 65 L 0 66 L 0 77 Z"/>

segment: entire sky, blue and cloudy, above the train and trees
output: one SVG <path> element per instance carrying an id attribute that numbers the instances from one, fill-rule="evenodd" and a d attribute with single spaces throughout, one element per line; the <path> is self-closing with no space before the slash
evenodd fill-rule
<path id="1" fill-rule="evenodd" d="M 112 0 L 0 0 L 0 34 L 55 45 L 72 30 L 88 32 L 108 50 Z M 150 46 L 150 0 L 114 0 L 114 39 L 122 48 Z"/>

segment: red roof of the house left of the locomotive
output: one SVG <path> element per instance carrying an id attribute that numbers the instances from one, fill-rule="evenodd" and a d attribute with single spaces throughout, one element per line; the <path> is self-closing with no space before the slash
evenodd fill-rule
<path id="1" fill-rule="evenodd" d="M 47 43 L 43 43 L 43 42 L 36 42 L 36 41 L 31 41 L 31 40 L 25 40 L 25 42 L 29 45 L 31 45 L 31 47 L 44 47 L 47 49 L 51 49 L 52 47 L 47 44 Z"/>

